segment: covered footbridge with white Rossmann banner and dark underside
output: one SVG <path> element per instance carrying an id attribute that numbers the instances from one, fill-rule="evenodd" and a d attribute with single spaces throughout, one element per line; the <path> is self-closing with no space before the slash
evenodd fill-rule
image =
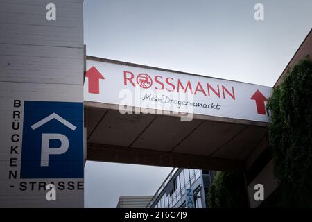
<path id="1" fill-rule="evenodd" d="M 132 101 L 142 101 L 147 93 L 172 98 L 180 90 L 197 103 L 218 103 L 222 111 L 192 108 L 192 120 L 181 121 L 186 114 L 180 111 L 189 110 L 159 108 L 157 101 L 149 101 L 153 108 L 150 103 L 127 106 L 149 114 L 122 114 L 125 90 L 133 92 Z M 267 146 L 263 107 L 270 87 L 87 56 L 84 91 L 87 160 L 243 171 Z"/>

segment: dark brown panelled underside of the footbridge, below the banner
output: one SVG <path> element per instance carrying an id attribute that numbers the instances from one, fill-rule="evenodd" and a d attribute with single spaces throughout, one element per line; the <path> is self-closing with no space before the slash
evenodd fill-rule
<path id="1" fill-rule="evenodd" d="M 266 146 L 264 123 L 195 116 L 120 114 L 117 105 L 85 101 L 87 160 L 243 171 Z"/>

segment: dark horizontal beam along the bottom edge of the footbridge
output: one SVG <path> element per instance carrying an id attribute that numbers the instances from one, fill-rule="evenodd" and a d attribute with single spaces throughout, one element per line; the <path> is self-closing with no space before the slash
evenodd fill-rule
<path id="1" fill-rule="evenodd" d="M 239 160 L 94 143 L 87 143 L 87 160 L 220 171 L 244 170 L 244 162 Z"/>

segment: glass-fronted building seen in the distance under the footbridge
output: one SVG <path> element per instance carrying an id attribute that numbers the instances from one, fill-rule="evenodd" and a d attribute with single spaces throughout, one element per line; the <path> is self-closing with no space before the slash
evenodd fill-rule
<path id="1" fill-rule="evenodd" d="M 214 178 L 213 171 L 175 168 L 153 196 L 148 208 L 185 208 L 187 190 L 193 194 L 193 207 L 206 208 L 207 191 Z"/>

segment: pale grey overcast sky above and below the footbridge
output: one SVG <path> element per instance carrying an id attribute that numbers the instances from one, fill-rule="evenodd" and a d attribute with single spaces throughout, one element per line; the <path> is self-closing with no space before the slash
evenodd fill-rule
<path id="1" fill-rule="evenodd" d="M 84 40 L 89 56 L 272 87 L 312 28 L 311 8 L 311 0 L 85 0 Z M 87 162 L 85 207 L 153 195 L 170 171 Z"/>

